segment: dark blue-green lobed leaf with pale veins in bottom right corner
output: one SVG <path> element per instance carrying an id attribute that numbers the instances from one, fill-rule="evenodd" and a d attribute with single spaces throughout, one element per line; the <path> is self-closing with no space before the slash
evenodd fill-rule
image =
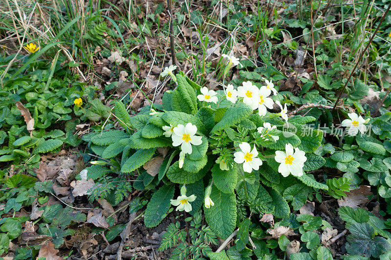
<path id="1" fill-rule="evenodd" d="M 348 254 L 377 258 L 390 250 L 387 240 L 375 236 L 373 227 L 368 223 L 353 223 L 349 231 L 351 234 L 346 238 Z"/>

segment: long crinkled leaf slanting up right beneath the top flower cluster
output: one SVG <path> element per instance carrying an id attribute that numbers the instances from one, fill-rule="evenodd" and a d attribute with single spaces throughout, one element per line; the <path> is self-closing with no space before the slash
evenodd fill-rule
<path id="1" fill-rule="evenodd" d="M 213 127 L 211 133 L 216 133 L 218 130 L 235 125 L 252 113 L 253 110 L 251 107 L 244 104 L 230 107 L 227 109 L 222 119 Z"/>

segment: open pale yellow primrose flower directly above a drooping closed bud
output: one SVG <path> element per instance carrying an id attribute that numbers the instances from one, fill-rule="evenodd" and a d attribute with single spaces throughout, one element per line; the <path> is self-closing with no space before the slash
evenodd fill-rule
<path id="1" fill-rule="evenodd" d="M 202 137 L 195 136 L 197 127 L 192 123 L 187 123 L 186 126 L 178 124 L 174 127 L 174 134 L 171 136 L 173 139 L 173 146 L 181 146 L 182 151 L 185 154 L 191 154 L 193 152 L 193 145 L 200 145 L 202 143 Z"/>

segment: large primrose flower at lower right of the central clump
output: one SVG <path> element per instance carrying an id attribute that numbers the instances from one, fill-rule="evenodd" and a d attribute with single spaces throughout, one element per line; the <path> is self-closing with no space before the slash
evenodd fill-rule
<path id="1" fill-rule="evenodd" d="M 278 172 L 283 177 L 287 177 L 289 174 L 293 176 L 303 176 L 304 162 L 307 160 L 304 151 L 300 151 L 299 148 L 295 148 L 293 152 L 293 146 L 290 143 L 285 144 L 285 152 L 276 151 L 277 162 L 281 163 L 278 167 Z"/>

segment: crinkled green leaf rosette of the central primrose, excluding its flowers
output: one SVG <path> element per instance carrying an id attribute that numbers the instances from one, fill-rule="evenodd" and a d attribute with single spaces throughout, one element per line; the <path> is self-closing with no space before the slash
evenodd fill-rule
<path id="1" fill-rule="evenodd" d="M 291 118 L 289 122 L 297 132 L 284 137 L 284 122 L 278 114 L 268 113 L 262 118 L 258 111 L 242 102 L 233 104 L 226 100 L 221 90 L 217 91 L 217 104 L 205 105 L 196 98 L 200 94 L 198 84 L 183 72 L 177 74 L 176 79 L 176 89 L 164 93 L 162 104 L 152 105 L 156 113 L 151 113 L 151 106 L 147 106 L 130 117 L 125 105 L 116 102 L 114 114 L 125 130 L 96 133 L 85 139 L 90 141 L 91 150 L 110 164 L 110 167 L 92 166 L 94 169 L 88 169 L 87 179 L 103 178 L 109 172 L 120 176 L 134 175 L 137 180 L 134 189 L 152 191 L 144 214 L 147 227 L 158 225 L 166 217 L 171 207 L 170 200 L 183 184 L 188 195 L 196 196 L 190 212 L 193 215 L 202 207 L 205 187 L 213 183 L 210 198 L 215 205 L 203 207 L 203 212 L 208 225 L 221 238 L 231 235 L 238 223 L 237 216 L 241 221 L 248 217 L 249 210 L 256 214 L 272 213 L 275 217 L 287 217 L 290 208 L 286 196 L 294 198 L 296 192 L 301 194 L 300 200 L 294 201 L 297 209 L 300 203 L 305 202 L 308 187 L 327 190 L 326 184 L 317 182 L 309 173 L 302 177 L 283 178 L 274 160 L 275 151 L 283 150 L 286 143 L 291 143 L 306 152 L 304 171 L 313 171 L 325 164 L 322 156 L 313 153 L 322 143 L 323 132 L 313 130 L 315 134 L 311 133 L 305 125 L 316 120 L 314 117 Z M 189 122 L 197 127 L 202 143 L 193 145 L 193 152 L 186 155 L 183 167 L 179 168 L 180 147 L 173 147 L 172 139 L 163 135 L 162 127 Z M 269 134 L 279 136 L 279 140 L 264 138 L 263 132 L 258 133 L 257 127 L 263 126 L 263 122 L 278 127 Z M 262 151 L 259 157 L 263 164 L 258 171 L 247 173 L 243 171 L 243 165 L 234 163 L 233 153 L 242 141 L 251 146 L 255 144 Z M 165 156 L 160 149 L 163 147 L 169 149 Z M 161 158 L 161 166 L 152 176 L 143 165 L 157 160 L 157 157 Z M 221 160 L 227 163 L 228 170 L 220 169 L 216 161 Z M 300 188 L 289 190 L 285 196 L 285 189 L 295 184 Z"/>

